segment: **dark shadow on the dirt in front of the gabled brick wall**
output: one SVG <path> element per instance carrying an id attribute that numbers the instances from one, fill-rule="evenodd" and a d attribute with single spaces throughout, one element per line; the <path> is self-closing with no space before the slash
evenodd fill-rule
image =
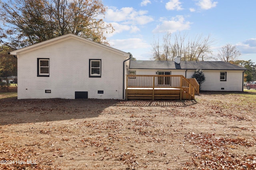
<path id="1" fill-rule="evenodd" d="M 120 100 L 0 99 L 0 125 L 98 117 Z"/>

